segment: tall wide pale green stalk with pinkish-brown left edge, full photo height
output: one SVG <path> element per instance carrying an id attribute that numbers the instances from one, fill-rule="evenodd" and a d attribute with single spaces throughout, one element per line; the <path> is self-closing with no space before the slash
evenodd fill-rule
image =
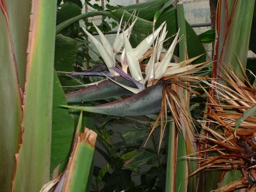
<path id="1" fill-rule="evenodd" d="M 14 191 L 40 191 L 49 180 L 56 1 L 32 1 L 24 97 L 24 132 Z M 40 173 L 40 174 L 38 174 Z"/>

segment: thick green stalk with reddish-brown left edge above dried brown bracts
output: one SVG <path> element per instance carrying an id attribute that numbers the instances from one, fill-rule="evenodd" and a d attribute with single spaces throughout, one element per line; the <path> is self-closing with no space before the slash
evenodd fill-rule
<path id="1" fill-rule="evenodd" d="M 216 19 L 218 38 L 215 46 L 213 77 L 219 77 L 222 68 L 230 66 L 239 74 L 239 77 L 243 78 L 254 5 L 254 0 L 218 2 Z"/>

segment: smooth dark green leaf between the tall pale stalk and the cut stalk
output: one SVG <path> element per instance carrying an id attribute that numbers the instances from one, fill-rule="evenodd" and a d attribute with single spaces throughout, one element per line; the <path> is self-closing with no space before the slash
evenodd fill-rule
<path id="1" fill-rule="evenodd" d="M 61 104 L 67 102 L 56 72 L 54 72 L 53 95 L 51 172 L 58 164 L 66 163 L 74 135 L 74 120 L 67 109 L 60 108 Z"/>

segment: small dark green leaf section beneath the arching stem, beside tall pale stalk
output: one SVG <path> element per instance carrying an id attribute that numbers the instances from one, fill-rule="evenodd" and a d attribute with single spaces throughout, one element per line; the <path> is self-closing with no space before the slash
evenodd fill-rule
<path id="1" fill-rule="evenodd" d="M 74 63 L 76 63 L 77 45 L 73 38 L 56 35 L 55 43 L 55 70 L 61 72 L 70 72 L 74 70 Z"/>

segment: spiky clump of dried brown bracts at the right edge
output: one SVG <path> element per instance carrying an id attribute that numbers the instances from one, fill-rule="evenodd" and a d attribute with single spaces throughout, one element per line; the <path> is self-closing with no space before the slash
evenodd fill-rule
<path id="1" fill-rule="evenodd" d="M 246 78 L 247 79 L 247 78 Z M 232 70 L 225 70 L 221 81 L 204 81 L 210 86 L 214 95 L 207 93 L 209 100 L 206 115 L 207 124 L 202 125 L 204 135 L 197 135 L 198 141 L 204 143 L 200 152 L 216 152 L 216 156 L 206 155 L 200 164 L 200 170 L 241 170 L 239 180 L 218 189 L 231 191 L 238 188 L 255 189 L 256 181 L 256 117 L 249 116 L 236 129 L 236 121 L 243 116 L 246 109 L 256 105 L 255 88 L 245 79 L 239 79 Z M 214 125 L 215 128 L 209 127 Z"/>

